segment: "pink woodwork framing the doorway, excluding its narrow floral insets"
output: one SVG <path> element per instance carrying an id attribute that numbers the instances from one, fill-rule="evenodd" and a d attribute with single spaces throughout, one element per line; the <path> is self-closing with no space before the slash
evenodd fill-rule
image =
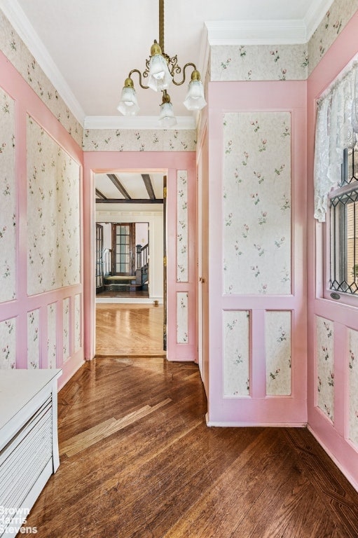
<path id="1" fill-rule="evenodd" d="M 85 358 L 95 355 L 95 287 L 93 230 L 95 226 L 94 172 L 148 172 L 167 174 L 167 359 L 196 360 L 195 327 L 195 153 L 191 152 L 86 152 L 84 154 L 84 270 Z M 177 171 L 188 172 L 188 282 L 177 282 Z M 177 343 L 177 292 L 188 292 L 188 343 Z"/>

